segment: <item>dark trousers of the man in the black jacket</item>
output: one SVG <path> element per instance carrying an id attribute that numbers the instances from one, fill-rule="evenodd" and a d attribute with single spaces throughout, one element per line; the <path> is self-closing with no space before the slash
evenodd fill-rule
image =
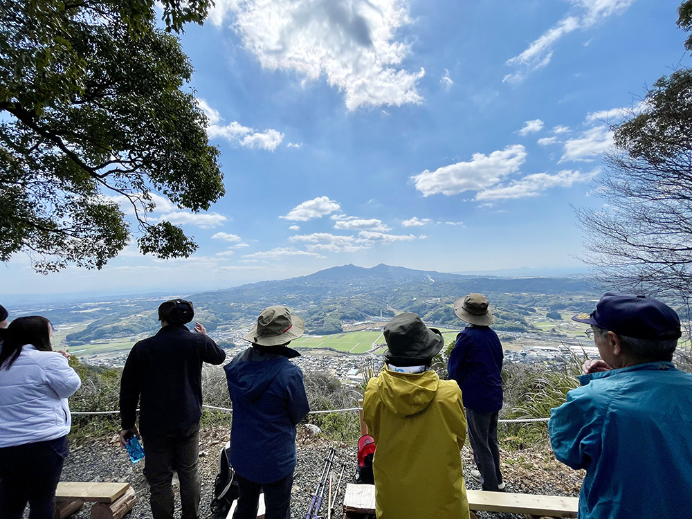
<path id="1" fill-rule="evenodd" d="M 154 519 L 173 519 L 173 471 L 178 473 L 180 481 L 181 518 L 199 518 L 199 421 L 172 435 L 145 437 L 144 454 L 144 475 L 151 487 L 149 502 Z"/>

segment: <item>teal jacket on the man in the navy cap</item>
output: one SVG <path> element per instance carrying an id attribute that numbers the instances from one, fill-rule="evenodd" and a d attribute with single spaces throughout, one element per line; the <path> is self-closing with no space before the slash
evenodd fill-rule
<path id="1" fill-rule="evenodd" d="M 548 422 L 555 457 L 586 469 L 579 518 L 692 518 L 692 374 L 655 362 L 581 383 Z"/>

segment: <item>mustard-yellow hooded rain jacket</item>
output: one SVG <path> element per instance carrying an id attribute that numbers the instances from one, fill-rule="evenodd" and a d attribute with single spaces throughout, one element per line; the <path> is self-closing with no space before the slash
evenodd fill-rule
<path id="1" fill-rule="evenodd" d="M 363 417 L 375 439 L 372 468 L 378 519 L 468 519 L 461 450 L 462 392 L 434 371 L 382 368 L 370 379 Z"/>

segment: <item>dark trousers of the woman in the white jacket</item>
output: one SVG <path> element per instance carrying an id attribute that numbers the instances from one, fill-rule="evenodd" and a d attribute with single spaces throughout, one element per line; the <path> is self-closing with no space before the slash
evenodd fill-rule
<path id="1" fill-rule="evenodd" d="M 53 519 L 67 437 L 0 448 L 0 518 Z"/>

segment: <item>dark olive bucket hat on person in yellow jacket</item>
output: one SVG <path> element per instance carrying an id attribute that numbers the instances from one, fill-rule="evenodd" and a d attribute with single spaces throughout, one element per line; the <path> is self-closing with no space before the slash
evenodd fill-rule
<path id="1" fill-rule="evenodd" d="M 385 325 L 385 362 L 395 366 L 428 364 L 444 346 L 439 330 L 428 328 L 417 313 L 399 313 Z"/>

